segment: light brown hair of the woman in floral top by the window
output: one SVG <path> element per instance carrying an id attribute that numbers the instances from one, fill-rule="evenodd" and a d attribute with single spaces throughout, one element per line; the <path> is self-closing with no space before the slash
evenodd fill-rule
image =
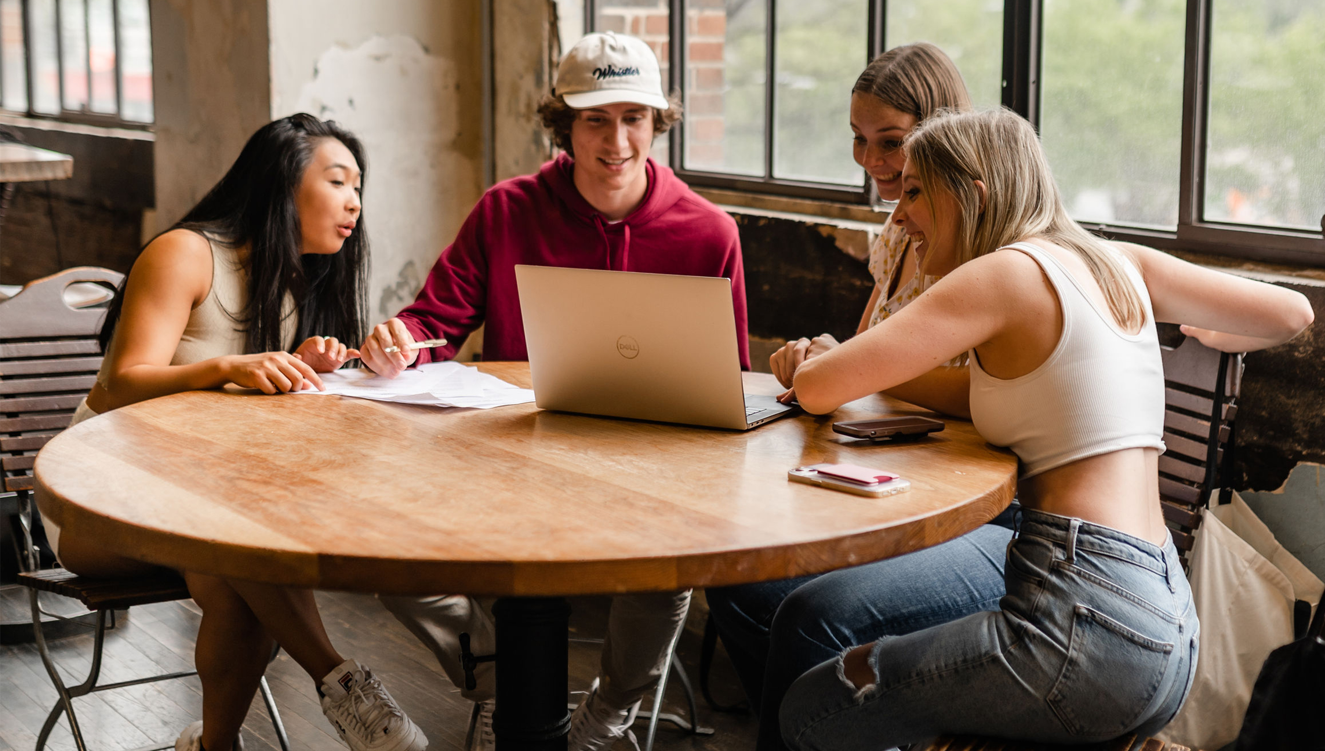
<path id="1" fill-rule="evenodd" d="M 916 122 L 942 109 L 971 109 L 971 95 L 953 58 L 929 42 L 906 44 L 878 53 L 851 90 L 908 113 Z"/>

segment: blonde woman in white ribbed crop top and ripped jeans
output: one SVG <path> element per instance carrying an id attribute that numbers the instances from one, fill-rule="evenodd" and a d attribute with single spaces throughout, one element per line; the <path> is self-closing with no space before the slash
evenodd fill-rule
<path id="1" fill-rule="evenodd" d="M 1159 510 L 1155 322 L 1224 351 L 1310 325 L 1291 290 L 1073 223 L 1035 131 L 953 114 L 906 142 L 893 220 L 921 273 L 905 310 L 794 372 L 828 413 L 970 354 L 971 417 L 1022 461 L 1019 532 L 996 611 L 845 650 L 782 706 L 792 748 L 888 748 L 941 732 L 1084 743 L 1149 734 L 1191 685 L 1199 624 Z"/>

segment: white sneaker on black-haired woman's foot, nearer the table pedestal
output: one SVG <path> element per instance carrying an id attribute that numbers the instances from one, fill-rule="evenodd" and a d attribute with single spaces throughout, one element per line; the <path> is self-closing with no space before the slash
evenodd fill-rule
<path id="1" fill-rule="evenodd" d="M 322 714 L 350 751 L 423 751 L 428 739 L 382 681 L 354 660 L 322 678 Z"/>

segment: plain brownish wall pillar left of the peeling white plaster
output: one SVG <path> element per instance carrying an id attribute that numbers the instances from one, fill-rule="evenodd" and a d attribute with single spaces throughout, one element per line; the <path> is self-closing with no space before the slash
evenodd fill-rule
<path id="1" fill-rule="evenodd" d="M 154 234 L 179 221 L 270 119 L 266 0 L 152 0 Z"/>

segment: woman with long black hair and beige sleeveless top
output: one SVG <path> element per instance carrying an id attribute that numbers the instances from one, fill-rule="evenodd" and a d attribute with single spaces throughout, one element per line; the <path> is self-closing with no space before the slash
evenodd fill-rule
<path id="1" fill-rule="evenodd" d="M 102 328 L 97 385 L 74 423 L 228 383 L 265 393 L 321 388 L 319 372 L 358 356 L 342 342 L 363 335 L 363 146 L 333 122 L 297 114 L 258 128 L 221 181 L 135 260 Z M 76 574 L 152 568 L 45 526 Z M 322 710 L 352 751 L 428 744 L 382 682 L 331 646 L 310 589 L 182 574 L 203 609 L 203 719 L 176 751 L 240 746 L 273 641 L 318 682 Z"/>

